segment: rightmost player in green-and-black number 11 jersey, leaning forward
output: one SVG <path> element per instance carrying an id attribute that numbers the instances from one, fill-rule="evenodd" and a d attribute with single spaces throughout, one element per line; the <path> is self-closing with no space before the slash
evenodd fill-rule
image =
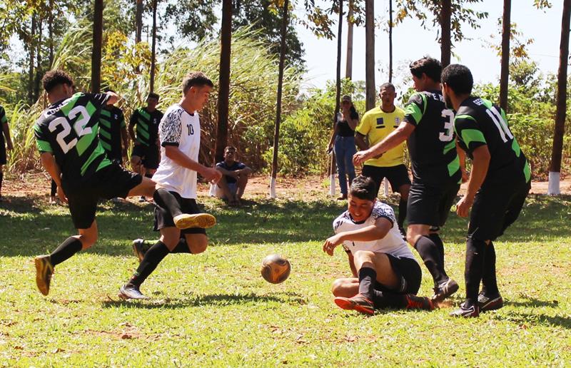
<path id="1" fill-rule="evenodd" d="M 456 111 L 458 143 L 472 159 L 468 190 L 457 206 L 462 217 L 467 217 L 472 207 L 466 241 L 466 300 L 452 315 L 477 317 L 480 311 L 503 306 L 492 241 L 520 215 L 531 188 L 531 171 L 505 112 L 490 101 L 470 96 L 470 69 L 447 66 L 442 83 L 446 104 Z M 480 281 L 482 292 L 478 295 Z"/>

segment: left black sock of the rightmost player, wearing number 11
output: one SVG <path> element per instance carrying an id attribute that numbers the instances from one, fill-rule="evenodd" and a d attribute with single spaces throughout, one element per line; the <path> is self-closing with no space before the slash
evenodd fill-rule
<path id="1" fill-rule="evenodd" d="M 464 277 L 466 280 L 466 302 L 468 305 L 477 303 L 477 294 L 484 272 L 486 243 L 483 240 L 468 237 L 466 242 L 466 264 Z"/>

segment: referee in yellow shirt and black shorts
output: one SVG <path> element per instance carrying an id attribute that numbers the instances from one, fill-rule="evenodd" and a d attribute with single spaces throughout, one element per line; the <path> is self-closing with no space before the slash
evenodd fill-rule
<path id="1" fill-rule="evenodd" d="M 366 150 L 371 145 L 380 142 L 398 128 L 405 117 L 405 111 L 395 106 L 397 96 L 395 86 L 392 83 L 384 83 L 380 86 L 380 107 L 367 111 L 355 129 L 355 143 L 360 150 Z M 369 144 L 365 141 L 368 136 Z M 377 194 L 383 178 L 387 178 L 393 192 L 400 193 L 398 203 L 398 228 L 405 234 L 403 223 L 406 218 L 406 204 L 408 191 L 410 190 L 410 178 L 404 164 L 405 142 L 400 143 L 393 149 L 388 150 L 377 158 L 370 158 L 363 165 L 363 175 L 372 178 L 377 184 Z"/>

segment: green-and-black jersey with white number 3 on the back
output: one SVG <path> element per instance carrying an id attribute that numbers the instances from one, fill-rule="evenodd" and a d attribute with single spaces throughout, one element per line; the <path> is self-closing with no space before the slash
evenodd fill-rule
<path id="1" fill-rule="evenodd" d="M 460 183 L 454 113 L 446 107 L 442 93 L 423 91 L 410 96 L 405 122 L 415 126 L 408 137 L 414 181 L 431 185 Z"/>

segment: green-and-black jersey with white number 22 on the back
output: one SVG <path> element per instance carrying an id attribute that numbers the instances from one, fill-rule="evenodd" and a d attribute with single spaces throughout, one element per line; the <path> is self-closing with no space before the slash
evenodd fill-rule
<path id="1" fill-rule="evenodd" d="M 54 155 L 62 180 L 71 186 L 111 165 L 98 140 L 99 115 L 108 98 L 76 93 L 46 108 L 34 125 L 39 151 Z"/>

